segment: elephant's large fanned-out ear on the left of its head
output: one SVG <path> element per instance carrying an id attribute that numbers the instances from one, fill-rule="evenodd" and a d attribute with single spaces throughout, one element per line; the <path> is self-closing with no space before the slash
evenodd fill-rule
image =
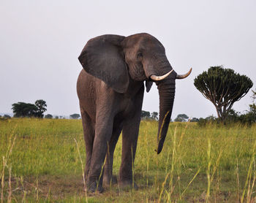
<path id="1" fill-rule="evenodd" d="M 127 91 L 129 85 L 127 64 L 121 48 L 124 38 L 107 34 L 90 39 L 78 57 L 86 72 L 103 80 L 118 93 Z"/>

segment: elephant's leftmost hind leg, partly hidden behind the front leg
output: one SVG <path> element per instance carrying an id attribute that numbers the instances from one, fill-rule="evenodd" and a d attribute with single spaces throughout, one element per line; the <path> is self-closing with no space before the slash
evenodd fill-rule
<path id="1" fill-rule="evenodd" d="M 94 145 L 94 124 L 91 122 L 91 118 L 86 113 L 86 111 L 80 108 L 81 118 L 83 121 L 83 136 L 86 142 L 86 168 L 84 170 L 85 180 L 89 175 L 89 169 L 91 166 L 91 155 L 92 155 L 92 146 Z"/>

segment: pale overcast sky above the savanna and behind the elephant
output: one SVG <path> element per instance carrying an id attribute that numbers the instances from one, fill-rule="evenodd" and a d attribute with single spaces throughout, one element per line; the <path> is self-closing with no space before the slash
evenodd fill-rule
<path id="1" fill-rule="evenodd" d="M 78 55 L 102 34 L 147 32 L 165 46 L 179 74 L 173 116 L 217 115 L 193 85 L 209 66 L 223 65 L 256 84 L 256 1 L 1 1 L 0 112 L 15 102 L 44 99 L 53 115 L 80 113 L 76 80 Z M 252 89 L 255 90 L 255 85 Z M 234 104 L 240 112 L 252 91 Z M 159 110 L 157 87 L 145 93 L 143 110 Z"/>

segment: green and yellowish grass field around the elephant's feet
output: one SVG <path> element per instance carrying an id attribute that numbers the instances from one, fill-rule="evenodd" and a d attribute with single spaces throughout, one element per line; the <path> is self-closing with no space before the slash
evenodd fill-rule
<path id="1" fill-rule="evenodd" d="M 157 122 L 142 121 L 138 190 L 86 194 L 81 120 L 0 120 L 1 202 L 256 202 L 255 144 L 256 126 L 171 123 L 157 155 Z M 120 164 L 121 137 L 116 175 Z"/>

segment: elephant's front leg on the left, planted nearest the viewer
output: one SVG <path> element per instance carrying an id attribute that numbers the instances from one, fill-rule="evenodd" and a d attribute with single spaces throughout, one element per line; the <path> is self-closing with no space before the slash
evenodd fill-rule
<path id="1" fill-rule="evenodd" d="M 86 183 L 87 189 L 90 192 L 99 191 L 101 193 L 103 191 L 103 164 L 113 130 L 113 120 L 110 118 L 103 118 L 103 120 L 99 119 L 96 122 L 91 166 Z"/>

